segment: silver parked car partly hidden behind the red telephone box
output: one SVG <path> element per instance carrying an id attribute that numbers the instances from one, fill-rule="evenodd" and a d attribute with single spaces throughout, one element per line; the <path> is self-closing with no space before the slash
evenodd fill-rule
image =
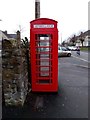
<path id="1" fill-rule="evenodd" d="M 58 47 L 58 56 L 71 56 L 71 51 L 65 47 Z"/>

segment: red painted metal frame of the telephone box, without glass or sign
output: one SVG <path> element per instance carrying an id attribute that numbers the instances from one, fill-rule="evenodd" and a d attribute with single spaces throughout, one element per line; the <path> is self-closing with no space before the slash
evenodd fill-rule
<path id="1" fill-rule="evenodd" d="M 36 24 L 53 24 L 54 28 L 34 28 Z M 36 35 L 49 34 L 52 37 L 49 39 L 49 46 L 37 46 L 40 40 L 36 39 Z M 45 41 L 45 40 L 44 40 Z M 48 53 L 40 52 L 37 53 L 37 48 L 50 48 L 51 51 Z M 52 57 L 49 59 L 36 58 L 37 54 L 49 54 Z M 58 91 L 58 29 L 57 21 L 40 18 L 30 22 L 30 55 L 31 55 L 31 80 L 32 80 L 32 91 L 35 92 L 57 92 Z M 37 63 L 49 61 L 50 65 L 41 66 Z M 40 71 L 41 67 L 49 68 L 49 71 Z M 49 76 L 39 76 L 39 74 L 48 73 Z M 39 82 L 41 81 L 41 83 Z M 42 82 L 45 81 L 46 83 Z"/>

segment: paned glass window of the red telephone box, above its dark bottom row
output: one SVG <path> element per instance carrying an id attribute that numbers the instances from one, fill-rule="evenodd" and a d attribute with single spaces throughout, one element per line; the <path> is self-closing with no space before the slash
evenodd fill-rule
<path id="1" fill-rule="evenodd" d="M 51 71 L 52 40 L 49 34 L 36 34 L 36 64 L 39 77 L 49 77 Z M 42 61 L 48 59 L 48 61 Z"/>

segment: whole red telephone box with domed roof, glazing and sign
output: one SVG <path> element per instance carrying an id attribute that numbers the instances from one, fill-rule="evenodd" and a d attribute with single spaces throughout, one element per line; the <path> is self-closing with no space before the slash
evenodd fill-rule
<path id="1" fill-rule="evenodd" d="M 39 18 L 30 22 L 32 91 L 58 91 L 57 21 Z"/>

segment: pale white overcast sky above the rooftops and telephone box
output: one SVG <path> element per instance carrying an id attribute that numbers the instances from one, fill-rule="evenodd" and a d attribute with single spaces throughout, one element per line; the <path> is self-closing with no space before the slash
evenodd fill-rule
<path id="1" fill-rule="evenodd" d="M 59 43 L 88 30 L 89 0 L 40 0 L 40 17 L 58 21 Z M 30 38 L 35 0 L 0 0 L 0 30 Z"/>

